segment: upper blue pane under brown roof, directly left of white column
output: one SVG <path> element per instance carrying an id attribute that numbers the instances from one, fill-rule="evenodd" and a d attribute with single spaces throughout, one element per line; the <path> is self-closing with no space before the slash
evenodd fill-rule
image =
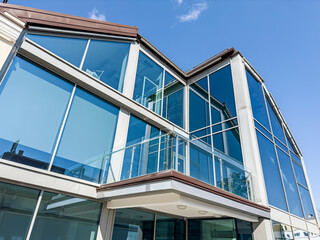
<path id="1" fill-rule="evenodd" d="M 82 69 L 122 91 L 130 44 L 91 40 Z"/>

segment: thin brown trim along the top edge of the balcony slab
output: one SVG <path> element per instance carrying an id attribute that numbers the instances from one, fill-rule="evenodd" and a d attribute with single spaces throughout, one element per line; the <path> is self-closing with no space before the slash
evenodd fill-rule
<path id="1" fill-rule="evenodd" d="M 146 184 L 146 183 L 151 183 L 151 182 L 158 182 L 158 181 L 163 181 L 163 180 L 175 180 L 181 183 L 188 184 L 190 186 L 196 187 L 198 189 L 205 190 L 207 192 L 211 192 L 213 194 L 219 195 L 221 197 L 266 211 L 270 212 L 270 208 L 259 205 L 257 203 L 254 203 L 252 201 L 249 201 L 245 198 L 239 197 L 235 194 L 226 192 L 220 188 L 214 187 L 210 184 L 207 184 L 205 182 L 202 182 L 198 179 L 195 179 L 193 177 L 187 176 L 185 174 L 182 174 L 180 172 L 174 171 L 174 170 L 169 170 L 169 171 L 164 171 L 164 172 L 157 172 L 157 173 L 152 173 L 140 177 L 135 177 L 131 179 L 126 179 L 122 180 L 119 182 L 115 183 L 109 183 L 105 184 L 99 188 L 97 188 L 97 191 L 107 191 L 107 190 L 112 190 L 112 189 L 117 189 L 117 188 L 122 188 L 122 187 L 129 187 L 129 186 L 134 186 L 134 185 L 140 185 L 140 184 Z"/>

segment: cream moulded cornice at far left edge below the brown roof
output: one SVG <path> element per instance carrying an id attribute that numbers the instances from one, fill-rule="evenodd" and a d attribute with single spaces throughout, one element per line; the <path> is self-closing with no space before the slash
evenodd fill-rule
<path id="1" fill-rule="evenodd" d="M 24 27 L 25 24 L 11 14 L 0 13 L 0 69 L 2 69 Z"/>

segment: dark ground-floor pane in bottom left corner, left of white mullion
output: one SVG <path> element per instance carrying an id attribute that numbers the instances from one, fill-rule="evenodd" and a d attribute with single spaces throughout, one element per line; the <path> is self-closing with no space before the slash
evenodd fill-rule
<path id="1" fill-rule="evenodd" d="M 25 239 L 40 191 L 0 183 L 0 239 Z"/>

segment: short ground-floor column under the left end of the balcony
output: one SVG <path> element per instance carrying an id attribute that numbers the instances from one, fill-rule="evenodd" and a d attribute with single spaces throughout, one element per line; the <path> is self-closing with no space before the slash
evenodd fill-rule
<path id="1" fill-rule="evenodd" d="M 107 202 L 103 203 L 96 240 L 112 239 L 115 212 L 107 208 Z"/>

